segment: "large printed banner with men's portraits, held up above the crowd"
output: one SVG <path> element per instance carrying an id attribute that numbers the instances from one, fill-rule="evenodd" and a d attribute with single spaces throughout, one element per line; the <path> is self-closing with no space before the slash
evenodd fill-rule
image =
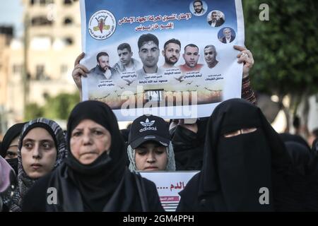
<path id="1" fill-rule="evenodd" d="M 118 121 L 207 117 L 241 97 L 240 0 L 81 0 L 81 26 L 83 100 L 107 103 Z"/>

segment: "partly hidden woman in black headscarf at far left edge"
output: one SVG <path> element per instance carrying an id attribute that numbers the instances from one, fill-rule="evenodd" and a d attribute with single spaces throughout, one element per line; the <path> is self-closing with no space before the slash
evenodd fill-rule
<path id="1" fill-rule="evenodd" d="M 8 164 L 18 174 L 18 138 L 25 123 L 18 123 L 11 126 L 1 143 L 1 156 L 6 159 Z"/>

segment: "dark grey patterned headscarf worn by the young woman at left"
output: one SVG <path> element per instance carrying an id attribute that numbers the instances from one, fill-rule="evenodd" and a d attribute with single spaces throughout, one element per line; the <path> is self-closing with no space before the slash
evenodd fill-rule
<path id="1" fill-rule="evenodd" d="M 16 191 L 17 196 L 13 198 L 13 204 L 10 207 L 10 210 L 13 212 L 21 210 L 21 202 L 23 196 L 28 192 L 30 187 L 35 184 L 37 179 L 32 179 L 28 177 L 25 170 L 22 166 L 22 157 L 21 157 L 21 147 L 23 138 L 27 135 L 27 133 L 34 128 L 41 127 L 46 129 L 49 134 L 52 136 L 54 143 L 57 148 L 57 160 L 54 164 L 54 170 L 57 168 L 61 162 L 66 157 L 66 138 L 64 135 L 63 129 L 57 124 L 55 121 L 45 119 L 45 118 L 38 118 L 29 121 L 23 126 L 22 132 L 20 133 L 19 141 L 18 141 L 18 191 Z"/>

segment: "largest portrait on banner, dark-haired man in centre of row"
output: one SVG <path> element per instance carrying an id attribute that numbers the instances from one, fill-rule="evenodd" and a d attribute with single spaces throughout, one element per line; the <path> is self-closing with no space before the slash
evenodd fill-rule
<path id="1" fill-rule="evenodd" d="M 157 65 L 160 54 L 158 37 L 151 33 L 141 35 L 138 40 L 138 48 L 143 67 L 136 71 L 137 78 L 143 79 L 152 74 L 162 74 L 163 70 Z"/>

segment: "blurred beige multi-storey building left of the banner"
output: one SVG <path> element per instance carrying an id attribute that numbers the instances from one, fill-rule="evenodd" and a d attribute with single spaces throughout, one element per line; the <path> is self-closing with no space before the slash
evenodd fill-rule
<path id="1" fill-rule="evenodd" d="M 45 105 L 47 95 L 76 91 L 71 72 L 81 53 L 79 2 L 21 1 L 23 37 L 0 34 L 2 130 L 23 121 L 25 105 Z"/>

